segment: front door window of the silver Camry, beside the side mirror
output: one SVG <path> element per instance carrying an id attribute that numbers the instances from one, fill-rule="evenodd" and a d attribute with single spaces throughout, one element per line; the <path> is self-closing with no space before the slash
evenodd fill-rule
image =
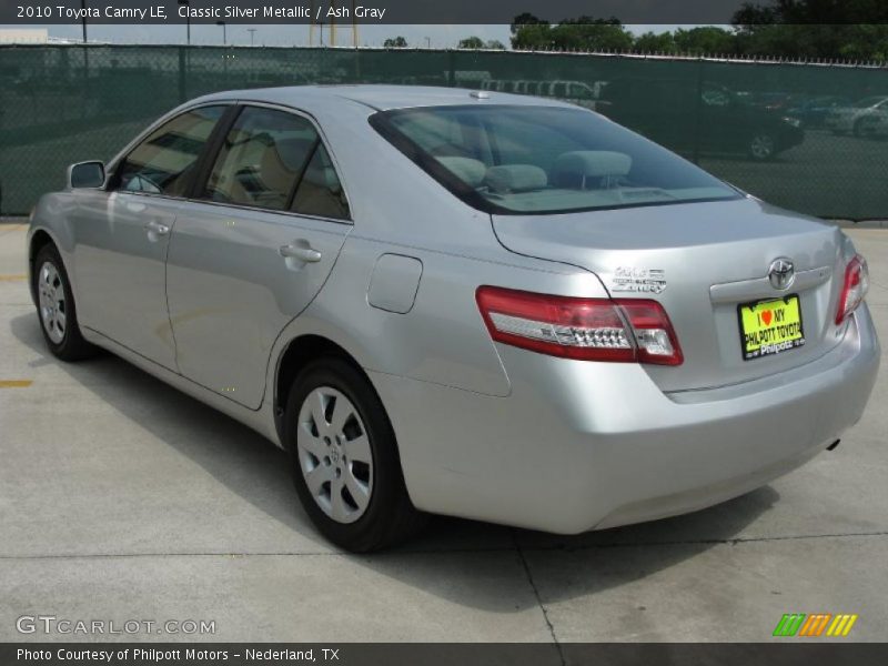
<path id="1" fill-rule="evenodd" d="M 127 155 L 118 189 L 169 196 L 188 194 L 198 158 L 226 107 L 201 107 L 176 115 Z"/>

